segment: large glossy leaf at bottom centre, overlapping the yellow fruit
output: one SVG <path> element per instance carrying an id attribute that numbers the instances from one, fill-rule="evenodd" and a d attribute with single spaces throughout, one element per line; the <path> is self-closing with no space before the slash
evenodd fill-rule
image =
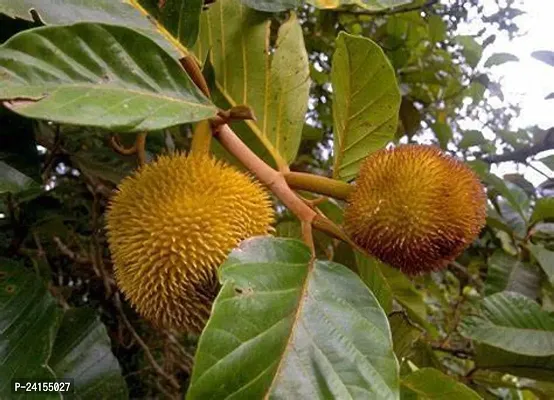
<path id="1" fill-rule="evenodd" d="M 353 272 L 262 237 L 231 252 L 220 279 L 187 398 L 398 398 L 385 313 Z"/>

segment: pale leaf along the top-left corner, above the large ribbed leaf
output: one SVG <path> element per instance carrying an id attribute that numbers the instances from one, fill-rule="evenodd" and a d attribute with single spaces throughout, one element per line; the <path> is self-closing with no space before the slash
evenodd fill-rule
<path id="1" fill-rule="evenodd" d="M 150 37 L 176 58 L 186 53 L 164 36 L 137 0 L 0 0 L 0 13 L 11 17 L 32 21 L 31 10 L 47 25 L 85 21 L 123 25 Z"/>

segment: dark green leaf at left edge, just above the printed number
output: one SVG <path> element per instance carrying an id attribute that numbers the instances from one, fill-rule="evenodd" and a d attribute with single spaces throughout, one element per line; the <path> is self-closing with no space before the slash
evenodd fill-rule
<path id="1" fill-rule="evenodd" d="M 0 397 L 12 398 L 14 378 L 55 377 L 46 361 L 61 312 L 38 276 L 5 258 L 0 258 L 0 310 Z"/>

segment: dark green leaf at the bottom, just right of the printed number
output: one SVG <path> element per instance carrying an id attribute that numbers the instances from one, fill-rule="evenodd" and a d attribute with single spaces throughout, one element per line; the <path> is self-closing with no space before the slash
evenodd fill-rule
<path id="1" fill-rule="evenodd" d="M 48 365 L 57 378 L 74 379 L 80 398 L 128 398 L 108 332 L 93 310 L 65 312 Z"/>

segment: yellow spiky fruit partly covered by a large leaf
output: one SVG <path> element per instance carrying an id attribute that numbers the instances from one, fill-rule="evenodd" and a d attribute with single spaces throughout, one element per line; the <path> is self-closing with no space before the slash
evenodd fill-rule
<path id="1" fill-rule="evenodd" d="M 161 156 L 119 185 L 107 213 L 116 282 L 155 325 L 199 332 L 219 265 L 267 234 L 274 212 L 249 176 L 205 155 Z"/>

